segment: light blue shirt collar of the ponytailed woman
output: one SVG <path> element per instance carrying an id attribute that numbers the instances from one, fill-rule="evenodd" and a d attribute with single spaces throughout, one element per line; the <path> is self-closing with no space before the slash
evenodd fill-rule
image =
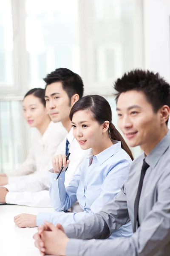
<path id="1" fill-rule="evenodd" d="M 121 149 L 121 142 L 117 141 L 117 140 L 112 140 L 112 142 L 115 143 L 113 146 L 111 146 L 109 148 L 106 148 L 104 151 L 100 152 L 96 156 L 94 156 L 93 151 L 91 149 L 90 152 L 87 155 L 89 160 L 90 160 L 91 157 L 94 156 L 93 157 L 94 162 L 95 162 L 95 160 L 97 160 L 99 162 L 99 164 L 101 165 L 106 160 L 108 160 L 110 157 L 112 157 L 114 154 L 116 154 Z"/>

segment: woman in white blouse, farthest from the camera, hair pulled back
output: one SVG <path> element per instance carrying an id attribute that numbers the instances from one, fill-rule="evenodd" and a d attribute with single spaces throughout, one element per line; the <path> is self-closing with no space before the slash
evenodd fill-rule
<path id="1" fill-rule="evenodd" d="M 45 108 L 45 90 L 34 88 L 28 91 L 23 99 L 23 116 L 30 127 L 36 128 L 32 145 L 27 159 L 24 163 L 10 174 L 0 175 L 0 185 L 6 185 L 10 191 L 40 191 L 48 189 L 49 181 L 46 172 L 51 157 L 57 151 L 59 143 L 62 142 L 67 131 L 60 122 L 51 122 Z M 37 186 L 34 177 L 39 176 L 42 181 Z M 29 182 L 30 181 L 30 182 Z M 32 182 L 33 181 L 33 182 Z"/>

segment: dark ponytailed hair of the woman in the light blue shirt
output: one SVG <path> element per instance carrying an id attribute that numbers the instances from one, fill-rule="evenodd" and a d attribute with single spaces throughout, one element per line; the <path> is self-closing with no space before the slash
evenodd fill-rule
<path id="1" fill-rule="evenodd" d="M 75 112 L 80 110 L 89 109 L 93 113 L 94 119 L 99 122 L 99 124 L 109 121 L 108 134 L 111 140 L 119 140 L 121 142 L 122 148 L 127 152 L 130 158 L 133 160 L 132 152 L 126 144 L 122 135 L 115 128 L 112 123 L 112 111 L 111 106 L 108 101 L 99 95 L 88 95 L 79 99 L 71 108 L 70 120 L 72 121 Z"/>

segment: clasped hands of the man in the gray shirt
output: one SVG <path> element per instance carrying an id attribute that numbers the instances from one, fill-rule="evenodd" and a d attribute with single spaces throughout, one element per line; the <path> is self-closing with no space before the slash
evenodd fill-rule
<path id="1" fill-rule="evenodd" d="M 47 221 L 44 221 L 44 223 L 45 226 L 40 226 L 38 233 L 33 236 L 35 246 L 40 250 L 42 255 L 65 256 L 69 239 L 65 235 L 62 225 L 57 224 L 57 227 L 55 227 Z"/>

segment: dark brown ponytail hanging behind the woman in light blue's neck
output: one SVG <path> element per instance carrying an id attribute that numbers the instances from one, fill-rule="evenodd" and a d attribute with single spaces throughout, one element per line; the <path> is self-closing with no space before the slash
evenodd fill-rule
<path id="1" fill-rule="evenodd" d="M 113 125 L 113 123 L 110 123 L 108 132 L 109 132 L 109 137 L 111 138 L 111 140 L 119 140 L 121 142 L 121 147 L 126 151 L 126 153 L 133 160 L 133 154 L 130 151 L 130 148 L 126 144 L 126 142 L 125 142 L 124 138 L 122 137 L 122 135 L 119 133 L 119 131 Z"/>

